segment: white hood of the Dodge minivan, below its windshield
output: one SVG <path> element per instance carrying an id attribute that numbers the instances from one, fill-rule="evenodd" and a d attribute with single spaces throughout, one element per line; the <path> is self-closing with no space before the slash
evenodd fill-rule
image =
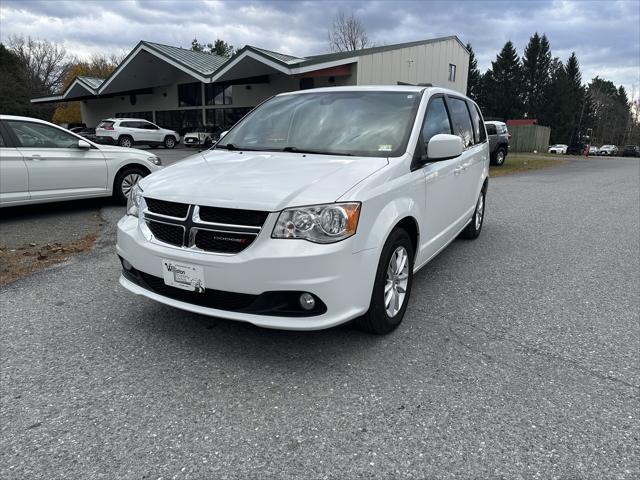
<path id="1" fill-rule="evenodd" d="M 386 158 L 209 150 L 140 182 L 144 196 L 248 210 L 330 203 Z"/>

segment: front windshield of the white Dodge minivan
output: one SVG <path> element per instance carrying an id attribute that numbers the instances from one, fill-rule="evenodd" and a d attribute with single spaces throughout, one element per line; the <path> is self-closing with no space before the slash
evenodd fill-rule
<path id="1" fill-rule="evenodd" d="M 216 145 L 237 150 L 370 157 L 405 152 L 418 92 L 309 92 L 274 97 Z"/>

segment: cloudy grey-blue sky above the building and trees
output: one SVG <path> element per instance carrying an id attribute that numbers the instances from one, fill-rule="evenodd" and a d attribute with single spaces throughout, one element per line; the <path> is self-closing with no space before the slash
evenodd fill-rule
<path id="1" fill-rule="evenodd" d="M 484 71 L 507 40 L 522 54 L 546 33 L 563 60 L 575 50 L 583 80 L 596 75 L 640 95 L 640 0 L 623 1 L 207 1 L 2 0 L 0 39 L 30 35 L 86 57 L 128 51 L 140 40 L 189 47 L 222 38 L 294 55 L 328 51 L 327 30 L 353 11 L 376 44 L 457 35 Z"/>

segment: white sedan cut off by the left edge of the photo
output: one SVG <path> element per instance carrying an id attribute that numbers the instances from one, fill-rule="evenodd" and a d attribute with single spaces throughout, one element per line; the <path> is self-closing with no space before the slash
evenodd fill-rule
<path id="1" fill-rule="evenodd" d="M 113 197 L 160 168 L 144 150 L 97 145 L 43 120 L 0 115 L 0 207 Z"/>

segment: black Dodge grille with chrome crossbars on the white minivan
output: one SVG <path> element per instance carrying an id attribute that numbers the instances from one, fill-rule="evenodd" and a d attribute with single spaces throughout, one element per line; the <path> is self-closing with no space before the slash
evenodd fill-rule
<path id="1" fill-rule="evenodd" d="M 251 245 L 269 216 L 256 210 L 145 200 L 145 224 L 156 242 L 227 255 Z"/>

